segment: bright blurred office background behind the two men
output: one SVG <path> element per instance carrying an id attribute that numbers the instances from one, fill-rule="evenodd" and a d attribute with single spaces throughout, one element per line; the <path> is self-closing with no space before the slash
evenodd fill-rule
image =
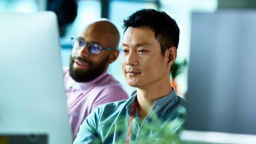
<path id="1" fill-rule="evenodd" d="M 54 0 L 49 0 L 54 1 Z M 0 0 L 0 12 L 38 12 L 47 10 L 48 0 Z M 61 0 L 60 0 L 61 1 Z M 154 8 L 163 10 L 173 17 L 180 27 L 180 44 L 176 62 L 189 63 L 190 56 L 190 28 L 192 12 L 214 12 L 218 8 L 255 8 L 254 0 L 75 0 L 77 4 L 77 16 L 74 22 L 66 26 L 65 33 L 60 37 L 62 66 L 69 65 L 72 46 L 70 37 L 76 36 L 80 28 L 96 18 L 108 18 L 118 28 L 122 41 L 122 21 L 132 12 L 140 8 Z M 60 5 L 56 4 L 56 7 Z M 119 45 L 120 55 L 121 46 Z M 108 72 L 118 79 L 128 94 L 132 94 L 135 88 L 126 84 L 118 59 L 110 64 Z M 171 78 L 171 76 L 170 76 Z M 188 66 L 183 67 L 182 72 L 176 77 L 177 91 L 182 97 L 186 97 L 188 90 Z"/>

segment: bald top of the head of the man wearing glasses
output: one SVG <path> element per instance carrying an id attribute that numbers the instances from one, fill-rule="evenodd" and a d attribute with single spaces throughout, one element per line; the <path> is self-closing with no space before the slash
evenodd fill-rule
<path id="1" fill-rule="evenodd" d="M 106 18 L 100 18 L 85 26 L 78 34 L 79 37 L 95 38 L 100 46 L 117 49 L 120 41 L 120 34 L 116 26 Z M 86 40 L 91 41 L 91 40 Z M 94 42 L 93 39 L 91 42 Z"/>

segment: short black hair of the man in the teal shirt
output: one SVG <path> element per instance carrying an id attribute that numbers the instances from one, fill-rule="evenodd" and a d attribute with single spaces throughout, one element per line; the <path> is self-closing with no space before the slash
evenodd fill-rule
<path id="1" fill-rule="evenodd" d="M 140 9 L 123 22 L 124 32 L 128 27 L 148 26 L 154 32 L 163 55 L 172 46 L 178 48 L 180 29 L 176 21 L 163 11 Z"/>

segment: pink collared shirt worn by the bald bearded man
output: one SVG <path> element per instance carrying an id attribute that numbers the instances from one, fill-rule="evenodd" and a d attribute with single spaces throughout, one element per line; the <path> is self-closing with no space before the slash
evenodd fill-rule
<path id="1" fill-rule="evenodd" d="M 85 117 L 101 104 L 126 100 L 129 98 L 126 91 L 108 72 L 90 82 L 75 82 L 69 75 L 69 68 L 64 67 L 64 85 L 68 106 L 69 122 L 73 140 Z"/>

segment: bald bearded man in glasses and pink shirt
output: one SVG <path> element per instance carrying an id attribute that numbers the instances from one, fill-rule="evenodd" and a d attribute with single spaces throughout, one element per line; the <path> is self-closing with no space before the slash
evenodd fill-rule
<path id="1" fill-rule="evenodd" d="M 66 101 L 73 140 L 86 116 L 101 104 L 128 99 L 108 66 L 118 58 L 120 34 L 110 20 L 100 18 L 72 38 L 70 66 L 64 67 Z"/>

